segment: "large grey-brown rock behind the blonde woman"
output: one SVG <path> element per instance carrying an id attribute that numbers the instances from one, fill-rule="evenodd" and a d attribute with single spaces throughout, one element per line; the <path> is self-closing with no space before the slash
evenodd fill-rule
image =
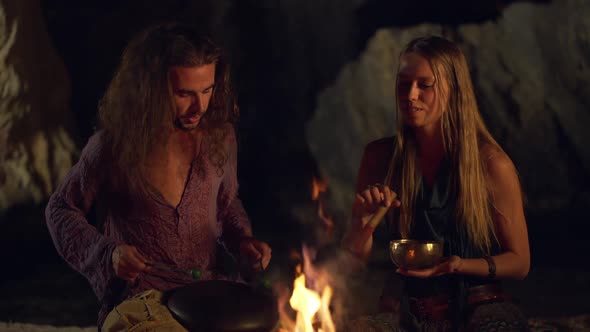
<path id="1" fill-rule="evenodd" d="M 394 132 L 394 73 L 401 47 L 436 34 L 456 40 L 470 63 L 491 132 L 516 164 L 537 213 L 587 203 L 590 177 L 590 3 L 507 7 L 497 21 L 378 30 L 359 58 L 321 92 L 307 140 L 345 213 L 364 145 Z M 576 203 L 572 203 L 576 202 Z"/>

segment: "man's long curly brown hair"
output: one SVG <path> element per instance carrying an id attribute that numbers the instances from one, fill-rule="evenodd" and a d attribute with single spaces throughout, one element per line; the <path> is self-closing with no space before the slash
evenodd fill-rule
<path id="1" fill-rule="evenodd" d="M 238 117 L 221 49 L 207 36 L 177 23 L 148 28 L 125 48 L 99 105 L 99 125 L 112 150 L 116 174 L 124 179 L 121 185 L 141 187 L 144 161 L 172 131 L 176 110 L 170 69 L 206 64 L 215 64 L 215 87 L 200 126 L 207 130 L 209 159 L 219 171 L 228 159 L 225 124 Z"/>

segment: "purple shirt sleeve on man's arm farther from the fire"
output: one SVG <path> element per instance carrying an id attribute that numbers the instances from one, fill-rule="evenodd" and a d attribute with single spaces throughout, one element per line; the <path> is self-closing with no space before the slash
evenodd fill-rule
<path id="1" fill-rule="evenodd" d="M 59 255 L 84 275 L 102 300 L 115 277 L 111 255 L 117 241 L 100 233 L 87 216 L 103 182 L 100 134 L 92 136 L 45 210 L 49 233 Z"/>

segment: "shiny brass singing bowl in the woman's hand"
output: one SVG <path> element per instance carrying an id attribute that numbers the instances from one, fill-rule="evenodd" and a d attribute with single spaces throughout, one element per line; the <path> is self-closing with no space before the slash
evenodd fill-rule
<path id="1" fill-rule="evenodd" d="M 399 268 L 426 269 L 442 260 L 443 243 L 410 239 L 393 240 L 389 242 L 389 256 Z"/>

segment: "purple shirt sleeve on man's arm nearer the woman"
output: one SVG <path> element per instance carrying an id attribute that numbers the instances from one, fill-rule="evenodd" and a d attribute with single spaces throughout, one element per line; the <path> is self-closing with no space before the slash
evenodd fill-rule
<path id="1" fill-rule="evenodd" d="M 237 141 L 235 130 L 229 127 L 227 137 L 227 167 L 219 188 L 218 219 L 222 224 L 221 240 L 233 254 L 238 254 L 240 240 L 252 236 L 250 219 L 238 197 Z"/>

